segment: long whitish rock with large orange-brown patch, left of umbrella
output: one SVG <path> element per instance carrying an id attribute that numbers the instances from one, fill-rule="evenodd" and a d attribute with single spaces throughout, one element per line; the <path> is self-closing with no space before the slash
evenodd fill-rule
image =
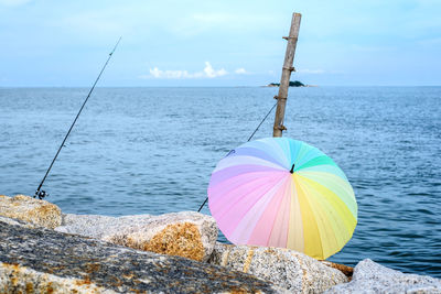
<path id="1" fill-rule="evenodd" d="M 63 215 L 56 230 L 197 261 L 208 260 L 217 239 L 214 218 L 193 211 L 118 218 Z"/>

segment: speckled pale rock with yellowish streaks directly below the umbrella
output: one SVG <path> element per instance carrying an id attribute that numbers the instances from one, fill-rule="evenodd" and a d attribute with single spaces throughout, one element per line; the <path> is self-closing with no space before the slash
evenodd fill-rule
<path id="1" fill-rule="evenodd" d="M 281 248 L 217 243 L 208 262 L 250 273 L 293 293 L 322 293 L 348 281 L 338 270 Z"/>

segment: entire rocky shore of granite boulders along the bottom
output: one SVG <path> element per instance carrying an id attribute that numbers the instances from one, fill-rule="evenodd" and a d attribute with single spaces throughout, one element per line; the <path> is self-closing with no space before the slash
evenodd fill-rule
<path id="1" fill-rule="evenodd" d="M 354 269 L 216 242 L 211 216 L 72 215 L 0 196 L 0 293 L 441 293 L 441 280 L 372 260 Z"/>

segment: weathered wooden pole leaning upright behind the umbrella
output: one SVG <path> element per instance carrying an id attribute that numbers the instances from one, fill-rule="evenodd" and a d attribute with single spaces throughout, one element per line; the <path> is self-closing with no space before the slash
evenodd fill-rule
<path id="1" fill-rule="evenodd" d="M 297 40 L 299 37 L 301 19 L 302 14 L 294 12 L 292 14 L 289 36 L 283 36 L 283 39 L 288 41 L 288 44 L 287 44 L 287 53 L 284 54 L 282 76 L 280 78 L 279 94 L 275 97 L 277 99 L 277 110 L 276 110 L 275 128 L 272 137 L 282 137 L 282 131 L 287 130 L 287 128 L 283 126 L 284 106 L 287 105 L 288 88 L 291 78 L 291 73 L 295 72 L 295 68 L 292 66 L 292 63 L 294 61 L 295 46 L 297 46 Z"/>

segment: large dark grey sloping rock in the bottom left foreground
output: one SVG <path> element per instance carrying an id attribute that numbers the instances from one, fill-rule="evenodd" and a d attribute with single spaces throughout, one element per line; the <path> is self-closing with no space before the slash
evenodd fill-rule
<path id="1" fill-rule="evenodd" d="M 222 266 L 2 220 L 0 240 L 4 293 L 284 292 Z"/>

